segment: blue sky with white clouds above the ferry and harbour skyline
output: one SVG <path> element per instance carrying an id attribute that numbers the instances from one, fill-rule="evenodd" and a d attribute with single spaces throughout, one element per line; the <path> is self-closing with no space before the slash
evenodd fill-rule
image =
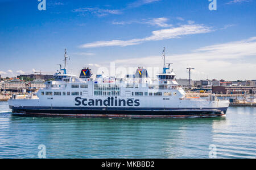
<path id="1" fill-rule="evenodd" d="M 256 2 L 217 0 L 0 0 L 0 74 L 42 71 L 63 63 L 82 67 L 162 67 L 161 53 L 174 63 L 177 78 L 196 68 L 194 80 L 255 79 Z"/>

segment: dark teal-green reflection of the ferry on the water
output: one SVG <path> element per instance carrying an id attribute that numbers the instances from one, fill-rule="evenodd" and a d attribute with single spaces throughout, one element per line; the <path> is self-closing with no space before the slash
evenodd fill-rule
<path id="1" fill-rule="evenodd" d="M 213 122 L 197 119 L 86 119 L 10 117 L 9 143 L 44 144 L 48 153 L 68 157 L 200 157 L 208 149 Z M 200 139 L 203 135 L 205 138 Z M 15 139 L 15 140 L 14 140 Z M 18 139 L 18 141 L 17 141 Z M 22 140 L 21 140 L 22 139 Z M 33 150 L 35 151 L 35 150 Z M 76 156 L 73 155 L 73 156 Z M 205 156 L 208 153 L 205 152 Z"/>

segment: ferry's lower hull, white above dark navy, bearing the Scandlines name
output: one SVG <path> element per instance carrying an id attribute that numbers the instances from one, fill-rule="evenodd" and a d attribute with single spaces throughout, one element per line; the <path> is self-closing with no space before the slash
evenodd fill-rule
<path id="1" fill-rule="evenodd" d="M 119 100 L 121 105 L 119 106 Z M 96 103 L 97 101 L 97 103 Z M 105 102 L 105 103 L 104 103 Z M 165 97 L 53 97 L 10 99 L 13 113 L 43 116 L 111 118 L 184 118 L 224 116 L 228 101 L 180 100 Z M 90 105 L 90 106 L 89 106 Z"/>

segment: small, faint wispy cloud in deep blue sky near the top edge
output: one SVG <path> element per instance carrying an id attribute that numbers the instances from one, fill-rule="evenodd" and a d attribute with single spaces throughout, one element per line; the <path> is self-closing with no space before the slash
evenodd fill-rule
<path id="1" fill-rule="evenodd" d="M 81 14 L 95 14 L 97 16 L 105 16 L 108 14 L 122 14 L 122 10 L 109 10 L 109 9 L 99 9 L 98 7 L 85 7 L 72 10 L 74 13 L 81 13 Z"/>

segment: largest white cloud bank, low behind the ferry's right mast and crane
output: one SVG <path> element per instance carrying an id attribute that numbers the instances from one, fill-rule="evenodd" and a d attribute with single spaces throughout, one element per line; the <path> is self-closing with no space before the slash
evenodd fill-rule
<path id="1" fill-rule="evenodd" d="M 167 55 L 166 61 L 174 63 L 177 78 L 187 78 L 186 68 L 196 68 L 193 80 L 217 78 L 220 80 L 252 80 L 256 72 L 256 37 L 238 42 L 209 45 L 195 49 L 191 53 Z M 252 59 L 253 58 L 253 59 Z M 159 56 L 139 57 L 136 59 L 119 59 L 114 61 L 117 67 L 162 67 Z M 106 65 L 106 64 L 105 64 Z M 160 69 L 159 69 L 160 71 Z M 151 73 L 150 73 L 151 74 Z"/>

